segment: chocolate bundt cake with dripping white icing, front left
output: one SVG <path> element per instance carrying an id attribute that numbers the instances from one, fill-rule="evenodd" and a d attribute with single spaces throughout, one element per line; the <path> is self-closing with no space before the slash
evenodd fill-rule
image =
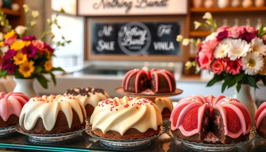
<path id="1" fill-rule="evenodd" d="M 80 130 L 86 125 L 82 103 L 70 95 L 31 98 L 22 108 L 19 124 L 30 134 L 60 134 Z"/>

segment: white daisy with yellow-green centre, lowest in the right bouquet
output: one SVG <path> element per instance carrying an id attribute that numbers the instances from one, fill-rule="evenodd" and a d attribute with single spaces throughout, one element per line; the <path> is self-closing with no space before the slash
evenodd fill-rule
<path id="1" fill-rule="evenodd" d="M 250 52 L 246 57 L 242 57 L 242 67 L 247 75 L 256 75 L 262 70 L 264 62 L 259 52 Z"/>

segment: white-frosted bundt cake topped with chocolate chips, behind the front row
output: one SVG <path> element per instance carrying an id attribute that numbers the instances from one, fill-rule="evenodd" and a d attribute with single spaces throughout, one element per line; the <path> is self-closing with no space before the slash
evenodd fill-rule
<path id="1" fill-rule="evenodd" d="M 68 89 L 64 95 L 72 95 L 78 98 L 84 105 L 87 117 L 92 116 L 94 108 L 99 101 L 110 98 L 101 88 L 75 88 Z"/>

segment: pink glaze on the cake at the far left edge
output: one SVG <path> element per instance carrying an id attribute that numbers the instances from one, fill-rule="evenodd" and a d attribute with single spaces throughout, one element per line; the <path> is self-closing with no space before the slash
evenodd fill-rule
<path id="1" fill-rule="evenodd" d="M 19 117 L 22 107 L 29 100 L 23 93 L 10 92 L 6 94 L 5 92 L 0 92 L 0 117 L 4 121 L 7 121 L 11 114 Z"/>

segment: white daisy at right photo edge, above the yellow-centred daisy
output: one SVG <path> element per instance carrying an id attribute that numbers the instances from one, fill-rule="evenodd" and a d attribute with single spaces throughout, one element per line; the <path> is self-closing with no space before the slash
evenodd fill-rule
<path id="1" fill-rule="evenodd" d="M 263 43 L 263 39 L 260 38 L 253 38 L 251 40 L 251 51 L 255 52 L 259 52 L 262 55 L 266 55 L 266 45 Z"/>

